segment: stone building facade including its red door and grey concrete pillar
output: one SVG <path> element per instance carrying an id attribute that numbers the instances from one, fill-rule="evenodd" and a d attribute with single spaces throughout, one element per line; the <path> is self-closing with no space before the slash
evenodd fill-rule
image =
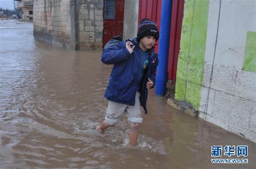
<path id="1" fill-rule="evenodd" d="M 137 36 L 139 0 L 34 0 L 34 35 L 73 50 Z"/>

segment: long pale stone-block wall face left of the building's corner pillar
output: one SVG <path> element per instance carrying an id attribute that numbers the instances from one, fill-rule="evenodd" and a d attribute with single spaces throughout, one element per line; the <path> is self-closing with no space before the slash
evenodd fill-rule
<path id="1" fill-rule="evenodd" d="M 34 0 L 34 35 L 71 48 L 70 0 Z"/>

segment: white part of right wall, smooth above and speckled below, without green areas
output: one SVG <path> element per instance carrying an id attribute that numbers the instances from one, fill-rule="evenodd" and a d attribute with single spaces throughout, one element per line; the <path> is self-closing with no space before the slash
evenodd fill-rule
<path id="1" fill-rule="evenodd" d="M 210 0 L 199 116 L 256 142 L 256 73 L 242 70 L 255 0 Z M 220 13 L 219 13 L 220 11 Z"/>

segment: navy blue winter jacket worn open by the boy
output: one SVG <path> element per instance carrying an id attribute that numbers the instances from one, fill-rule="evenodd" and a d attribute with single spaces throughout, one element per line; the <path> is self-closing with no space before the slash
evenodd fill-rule
<path id="1" fill-rule="evenodd" d="M 129 40 L 129 39 L 128 39 Z M 137 38 L 129 40 L 135 45 L 134 52 L 129 53 L 125 47 L 126 41 L 119 42 L 117 45 L 105 48 L 102 53 L 102 62 L 114 64 L 105 92 L 105 98 L 117 103 L 134 106 L 137 87 L 137 76 L 140 65 L 140 46 Z M 156 84 L 156 70 L 158 65 L 158 54 L 151 48 L 149 51 L 148 68 L 144 70 L 140 87 L 140 104 L 147 114 L 148 89 L 146 83 L 150 78 Z"/>

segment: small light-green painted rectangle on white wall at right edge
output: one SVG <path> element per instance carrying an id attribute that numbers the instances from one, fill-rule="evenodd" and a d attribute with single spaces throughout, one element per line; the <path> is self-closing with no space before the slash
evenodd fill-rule
<path id="1" fill-rule="evenodd" d="M 247 32 L 242 70 L 256 73 L 256 32 Z"/>

